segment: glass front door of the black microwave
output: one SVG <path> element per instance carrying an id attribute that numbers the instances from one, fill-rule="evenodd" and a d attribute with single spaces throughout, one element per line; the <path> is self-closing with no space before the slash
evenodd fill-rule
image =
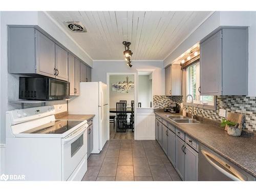
<path id="1" fill-rule="evenodd" d="M 58 79 L 48 79 L 49 98 L 48 100 L 68 99 L 69 82 Z"/>

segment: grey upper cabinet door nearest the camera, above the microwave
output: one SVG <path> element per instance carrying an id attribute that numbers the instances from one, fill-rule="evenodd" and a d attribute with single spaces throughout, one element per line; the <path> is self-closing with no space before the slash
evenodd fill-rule
<path id="1" fill-rule="evenodd" d="M 55 43 L 36 31 L 36 73 L 55 77 Z"/>

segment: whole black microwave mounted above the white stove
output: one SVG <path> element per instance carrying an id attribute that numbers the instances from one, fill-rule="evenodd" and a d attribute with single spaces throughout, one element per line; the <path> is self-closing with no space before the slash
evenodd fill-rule
<path id="1" fill-rule="evenodd" d="M 29 100 L 68 99 L 69 82 L 49 77 L 19 77 L 19 98 Z"/>

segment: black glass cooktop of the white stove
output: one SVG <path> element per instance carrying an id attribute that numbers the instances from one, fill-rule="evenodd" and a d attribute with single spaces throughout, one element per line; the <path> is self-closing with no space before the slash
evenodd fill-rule
<path id="1" fill-rule="evenodd" d="M 22 133 L 26 134 L 62 134 L 83 121 L 56 120 Z"/>

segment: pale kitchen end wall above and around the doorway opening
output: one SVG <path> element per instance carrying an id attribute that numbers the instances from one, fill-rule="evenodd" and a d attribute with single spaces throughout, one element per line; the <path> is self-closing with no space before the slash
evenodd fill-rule
<path id="1" fill-rule="evenodd" d="M 163 61 L 132 61 L 133 67 L 126 65 L 125 61 L 94 61 L 92 81 L 106 83 L 106 73 L 134 73 L 136 69 L 154 69 L 153 95 L 164 95 L 164 68 Z"/>

